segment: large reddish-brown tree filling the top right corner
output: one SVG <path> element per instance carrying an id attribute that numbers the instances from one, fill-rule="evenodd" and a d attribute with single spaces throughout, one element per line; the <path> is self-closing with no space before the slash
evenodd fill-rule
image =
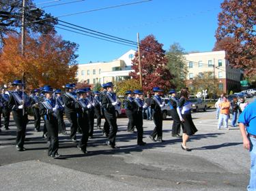
<path id="1" fill-rule="evenodd" d="M 233 67 L 244 70 L 244 74 L 256 80 L 256 1 L 224 0 L 222 12 L 218 14 L 217 43 L 230 37 L 226 43 L 226 59 Z"/>

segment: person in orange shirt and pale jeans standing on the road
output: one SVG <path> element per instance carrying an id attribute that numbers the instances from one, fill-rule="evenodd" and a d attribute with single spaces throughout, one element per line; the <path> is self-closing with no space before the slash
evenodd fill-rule
<path id="1" fill-rule="evenodd" d="M 225 128 L 228 128 L 228 121 L 229 121 L 229 109 L 230 109 L 230 103 L 227 100 L 227 97 L 223 97 L 223 101 L 219 104 L 221 112 L 220 112 L 220 117 L 218 118 L 218 129 L 221 129 L 221 126 L 223 124 L 224 120 L 224 126 Z"/>

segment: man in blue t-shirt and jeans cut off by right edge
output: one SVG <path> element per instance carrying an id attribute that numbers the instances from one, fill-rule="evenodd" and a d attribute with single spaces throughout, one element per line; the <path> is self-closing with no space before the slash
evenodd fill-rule
<path id="1" fill-rule="evenodd" d="M 249 104 L 239 117 L 244 148 L 251 154 L 251 179 L 248 191 L 256 190 L 256 101 Z M 247 131 L 247 135 L 246 135 Z"/>

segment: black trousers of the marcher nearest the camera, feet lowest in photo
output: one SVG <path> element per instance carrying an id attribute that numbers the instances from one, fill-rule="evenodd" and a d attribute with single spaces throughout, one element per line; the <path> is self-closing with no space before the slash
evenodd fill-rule
<path id="1" fill-rule="evenodd" d="M 58 121 L 57 118 L 52 118 L 51 120 L 46 119 L 45 122 L 50 141 L 48 156 L 55 156 L 59 150 Z"/>

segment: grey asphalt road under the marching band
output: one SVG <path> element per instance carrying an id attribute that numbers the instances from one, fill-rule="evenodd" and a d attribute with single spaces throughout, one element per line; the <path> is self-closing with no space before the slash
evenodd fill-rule
<path id="1" fill-rule="evenodd" d="M 136 133 L 127 133 L 127 119 L 119 118 L 119 149 L 104 145 L 99 130 L 89 139 L 87 155 L 59 135 L 58 160 L 47 156 L 46 141 L 42 132 L 33 131 L 33 121 L 27 126 L 27 151 L 17 152 L 11 120 L 10 131 L 0 133 L 0 190 L 246 190 L 250 157 L 240 131 L 218 130 L 215 118 L 215 110 L 193 114 L 199 131 L 188 142 L 192 152 L 171 137 L 169 118 L 163 122 L 163 143 L 148 138 L 154 123 L 144 120 L 145 146 L 136 145 Z"/>

